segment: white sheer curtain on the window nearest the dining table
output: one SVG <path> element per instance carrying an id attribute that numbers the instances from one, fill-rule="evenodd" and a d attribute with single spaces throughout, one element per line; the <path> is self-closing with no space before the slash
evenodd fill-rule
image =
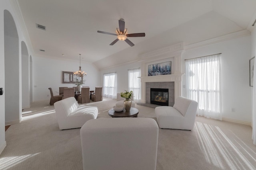
<path id="1" fill-rule="evenodd" d="M 116 72 L 103 75 L 103 97 L 116 99 Z"/>

